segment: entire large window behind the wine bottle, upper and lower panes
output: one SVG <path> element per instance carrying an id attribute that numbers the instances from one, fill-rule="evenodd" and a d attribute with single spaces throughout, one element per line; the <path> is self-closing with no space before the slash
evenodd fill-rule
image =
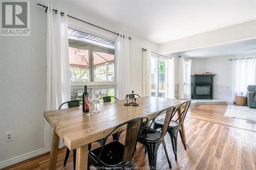
<path id="1" fill-rule="evenodd" d="M 115 96 L 115 41 L 68 28 L 71 99 L 80 99 L 83 86 L 89 92 Z"/>

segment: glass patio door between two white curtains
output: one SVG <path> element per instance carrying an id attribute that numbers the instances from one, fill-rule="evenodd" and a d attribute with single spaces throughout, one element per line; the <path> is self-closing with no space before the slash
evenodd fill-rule
<path id="1" fill-rule="evenodd" d="M 167 98 L 167 60 L 155 55 L 151 58 L 151 96 Z"/>

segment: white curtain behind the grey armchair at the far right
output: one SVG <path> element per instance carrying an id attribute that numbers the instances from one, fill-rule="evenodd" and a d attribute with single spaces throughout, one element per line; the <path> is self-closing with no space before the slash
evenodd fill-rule
<path id="1" fill-rule="evenodd" d="M 247 86 L 256 84 L 256 59 L 232 60 L 233 99 L 236 94 L 245 96 Z"/>

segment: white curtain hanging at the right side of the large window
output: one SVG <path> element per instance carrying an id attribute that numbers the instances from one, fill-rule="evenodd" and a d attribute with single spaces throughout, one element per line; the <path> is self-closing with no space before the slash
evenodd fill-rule
<path id="1" fill-rule="evenodd" d="M 125 99 L 130 94 L 130 57 L 129 36 L 119 33 L 116 36 L 116 73 L 117 73 L 117 97 Z"/>

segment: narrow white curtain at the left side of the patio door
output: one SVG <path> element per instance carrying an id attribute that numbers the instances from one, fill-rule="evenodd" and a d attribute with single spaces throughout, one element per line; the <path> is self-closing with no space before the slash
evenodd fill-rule
<path id="1" fill-rule="evenodd" d="M 143 96 L 151 96 L 151 50 L 143 51 Z"/>

